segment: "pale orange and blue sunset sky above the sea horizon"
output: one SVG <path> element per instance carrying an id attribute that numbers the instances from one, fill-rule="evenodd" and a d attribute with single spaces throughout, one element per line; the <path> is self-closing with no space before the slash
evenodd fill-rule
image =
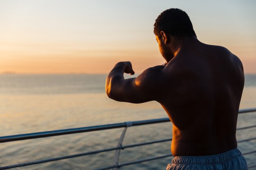
<path id="1" fill-rule="evenodd" d="M 119 61 L 141 73 L 164 63 L 153 24 L 169 8 L 256 73 L 255 0 L 1 0 L 0 73 L 105 74 Z"/>

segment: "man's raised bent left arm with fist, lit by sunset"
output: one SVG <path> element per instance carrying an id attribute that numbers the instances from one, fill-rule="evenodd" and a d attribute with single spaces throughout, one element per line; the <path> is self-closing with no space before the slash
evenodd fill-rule
<path id="1" fill-rule="evenodd" d="M 106 93 L 119 102 L 143 103 L 157 100 L 162 91 L 163 68 L 148 68 L 136 78 L 124 79 L 124 73 L 134 74 L 134 71 L 130 62 L 119 62 L 108 74 Z"/>

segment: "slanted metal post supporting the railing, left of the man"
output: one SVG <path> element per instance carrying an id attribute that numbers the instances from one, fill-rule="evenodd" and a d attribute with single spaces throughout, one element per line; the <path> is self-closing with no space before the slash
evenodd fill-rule
<path id="1" fill-rule="evenodd" d="M 124 123 L 126 124 L 126 127 L 124 128 L 124 130 L 123 130 L 123 132 L 122 132 L 122 134 L 121 134 L 121 136 L 120 136 L 120 138 L 119 138 L 119 141 L 118 141 L 118 143 L 117 143 L 117 146 L 118 146 L 120 149 L 117 149 L 117 150 L 115 151 L 115 155 L 114 155 L 113 163 L 114 163 L 115 166 L 118 166 L 118 165 L 119 165 L 118 161 L 119 161 L 120 152 L 121 152 L 121 149 L 124 149 L 123 146 L 122 146 L 122 144 L 123 144 L 123 141 L 124 141 L 124 136 L 125 136 L 126 130 L 127 130 L 128 127 L 132 126 L 132 122 L 131 122 L 131 121 L 126 121 L 126 122 L 124 122 Z M 115 168 L 114 170 L 118 170 L 118 169 L 119 169 L 119 168 L 117 167 L 117 168 Z M 112 169 L 112 170 L 113 170 L 113 169 Z"/>

